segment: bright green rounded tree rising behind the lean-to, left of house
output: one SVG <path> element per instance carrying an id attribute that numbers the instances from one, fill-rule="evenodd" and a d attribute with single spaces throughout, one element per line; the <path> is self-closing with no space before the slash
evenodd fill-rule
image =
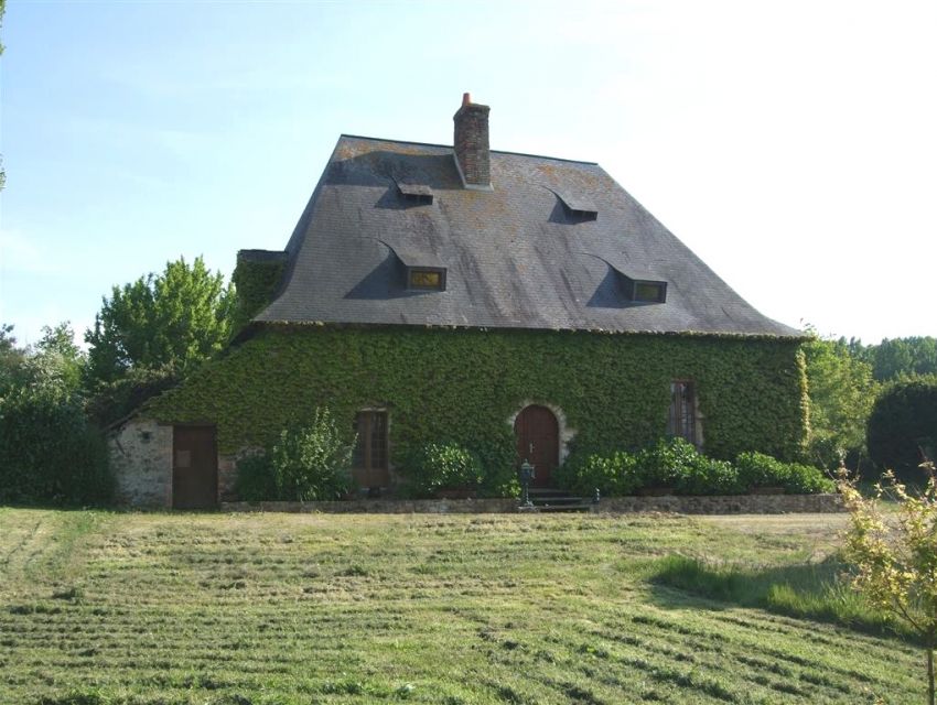
<path id="1" fill-rule="evenodd" d="M 184 375 L 227 343 L 233 289 L 198 257 L 141 276 L 105 297 L 85 334 L 91 386 L 115 382 L 130 369 Z"/>

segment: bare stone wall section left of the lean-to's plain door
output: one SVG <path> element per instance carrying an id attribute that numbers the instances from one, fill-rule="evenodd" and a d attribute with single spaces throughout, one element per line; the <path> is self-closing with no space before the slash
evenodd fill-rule
<path id="1" fill-rule="evenodd" d="M 172 426 L 131 419 L 108 437 L 117 501 L 172 507 Z"/>

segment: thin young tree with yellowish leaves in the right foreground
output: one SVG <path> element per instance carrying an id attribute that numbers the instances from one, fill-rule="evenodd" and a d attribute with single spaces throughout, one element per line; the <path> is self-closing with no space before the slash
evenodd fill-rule
<path id="1" fill-rule="evenodd" d="M 912 495 L 893 475 L 865 499 L 842 477 L 840 491 L 849 510 L 844 558 L 854 566 L 852 585 L 882 612 L 916 633 L 927 653 L 927 703 L 935 705 L 934 649 L 937 648 L 937 477 L 934 462 L 920 465 L 928 478 Z M 883 516 L 880 502 L 897 500 L 895 519 Z"/>

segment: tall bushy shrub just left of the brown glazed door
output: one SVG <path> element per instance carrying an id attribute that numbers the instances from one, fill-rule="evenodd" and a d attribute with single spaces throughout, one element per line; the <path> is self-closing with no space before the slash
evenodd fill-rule
<path id="1" fill-rule="evenodd" d="M 260 462 L 248 467 L 252 463 Z M 341 499 L 353 486 L 352 446 L 327 409 L 316 409 L 308 426 L 283 430 L 270 452 L 270 466 L 280 500 Z"/>

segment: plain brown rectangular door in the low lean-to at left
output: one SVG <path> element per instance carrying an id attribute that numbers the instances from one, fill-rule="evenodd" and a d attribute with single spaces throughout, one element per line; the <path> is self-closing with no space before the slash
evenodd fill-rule
<path id="1" fill-rule="evenodd" d="M 218 506 L 218 455 L 214 426 L 174 426 L 172 432 L 173 509 Z"/>

